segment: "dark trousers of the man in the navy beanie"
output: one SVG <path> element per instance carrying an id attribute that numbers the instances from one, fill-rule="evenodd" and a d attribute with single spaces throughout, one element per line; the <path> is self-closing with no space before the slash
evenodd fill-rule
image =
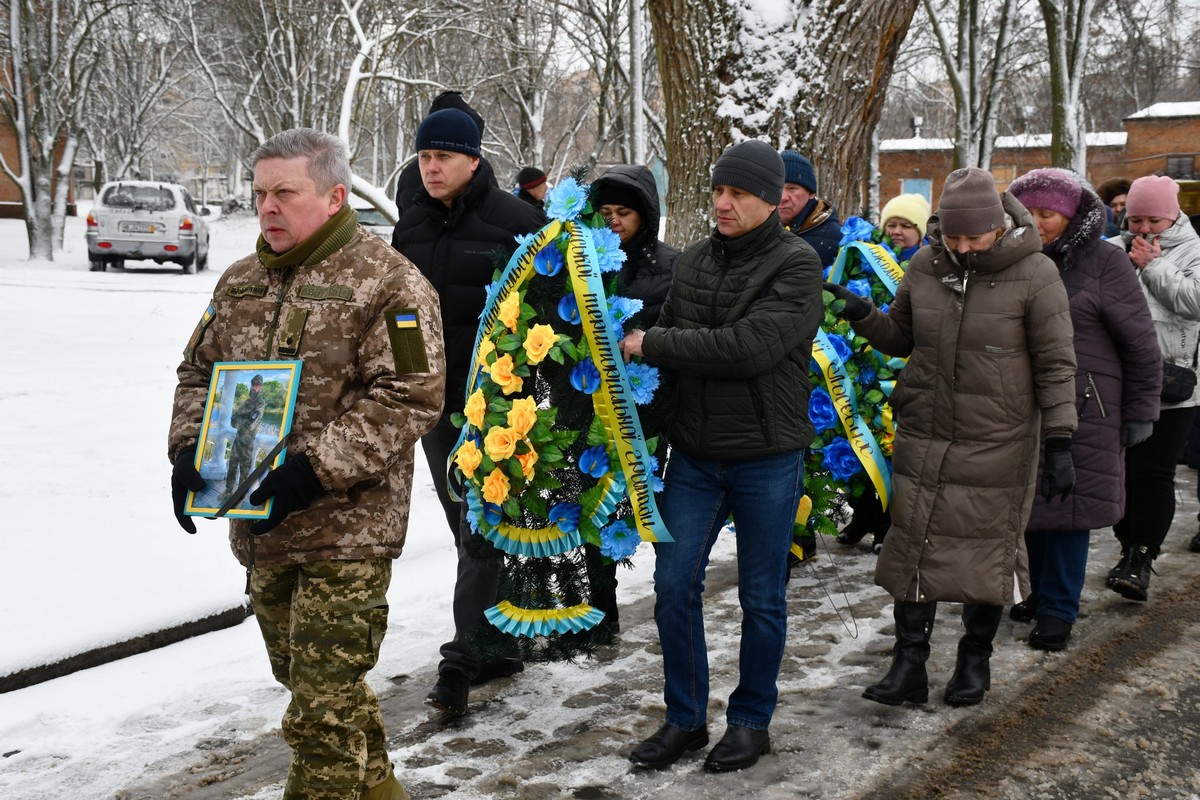
<path id="1" fill-rule="evenodd" d="M 421 450 L 433 474 L 433 487 L 446 516 L 446 524 L 458 548 L 458 575 L 454 584 L 454 638 L 442 645 L 442 663 L 438 673 L 457 669 L 468 678 L 479 674 L 479 654 L 470 643 L 472 631 L 480 625 L 491 625 L 484 612 L 499 600 L 503 554 L 491 548 L 490 555 L 481 557 L 488 548 L 485 542 L 472 542 L 470 525 L 467 524 L 467 504 L 456 503 L 446 491 L 446 459 L 458 440 L 458 428 L 445 415 L 432 431 L 421 437 Z M 468 552 L 468 546 L 470 551 Z"/>

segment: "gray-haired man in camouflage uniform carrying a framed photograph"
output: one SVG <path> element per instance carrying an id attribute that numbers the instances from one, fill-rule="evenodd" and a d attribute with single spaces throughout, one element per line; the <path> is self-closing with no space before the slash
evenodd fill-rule
<path id="1" fill-rule="evenodd" d="M 298 128 L 252 156 L 257 252 L 217 282 L 179 366 L 168 456 L 182 513 L 217 361 L 300 360 L 287 461 L 250 497 L 265 519 L 229 540 L 275 678 L 292 692 L 287 800 L 407 798 L 365 676 L 388 627 L 391 560 L 412 497 L 413 447 L 442 413 L 438 297 L 420 272 L 356 224 L 346 144 Z"/>

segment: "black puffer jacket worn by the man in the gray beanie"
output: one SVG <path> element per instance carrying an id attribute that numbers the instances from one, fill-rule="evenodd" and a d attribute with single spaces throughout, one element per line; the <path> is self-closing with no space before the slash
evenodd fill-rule
<path id="1" fill-rule="evenodd" d="M 689 247 L 642 342 L 647 361 L 678 381 L 671 445 L 721 461 L 806 447 L 821 314 L 821 264 L 778 211 L 743 236 L 714 233 Z"/>

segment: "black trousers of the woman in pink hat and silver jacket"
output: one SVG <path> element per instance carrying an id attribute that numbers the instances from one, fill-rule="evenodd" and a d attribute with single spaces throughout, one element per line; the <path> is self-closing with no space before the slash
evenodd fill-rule
<path id="1" fill-rule="evenodd" d="M 1175 518 L 1175 468 L 1183 456 L 1195 411 L 1162 411 L 1150 438 L 1126 450 L 1126 512 L 1112 525 L 1123 549 L 1146 546 L 1152 557 L 1158 557 Z"/>

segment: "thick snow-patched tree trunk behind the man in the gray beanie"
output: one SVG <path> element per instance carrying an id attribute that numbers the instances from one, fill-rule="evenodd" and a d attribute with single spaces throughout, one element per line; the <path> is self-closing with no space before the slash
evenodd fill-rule
<path id="1" fill-rule="evenodd" d="M 917 0 L 814 0 L 766 12 L 732 0 L 649 0 L 667 119 L 668 237 L 708 231 L 709 168 L 734 139 L 806 152 L 821 194 L 863 205 L 871 132 Z"/>

